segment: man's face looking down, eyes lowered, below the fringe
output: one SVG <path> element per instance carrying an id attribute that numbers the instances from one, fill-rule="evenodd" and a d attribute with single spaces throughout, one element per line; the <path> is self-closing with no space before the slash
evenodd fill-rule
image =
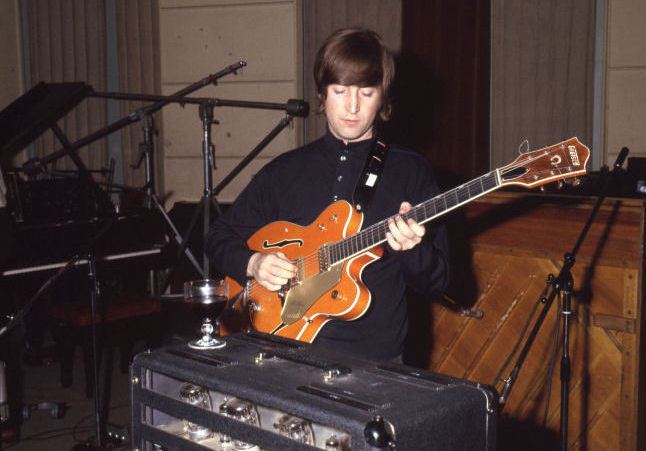
<path id="1" fill-rule="evenodd" d="M 329 85 L 324 102 L 330 132 L 345 143 L 372 137 L 372 123 L 381 108 L 377 87 Z"/>

